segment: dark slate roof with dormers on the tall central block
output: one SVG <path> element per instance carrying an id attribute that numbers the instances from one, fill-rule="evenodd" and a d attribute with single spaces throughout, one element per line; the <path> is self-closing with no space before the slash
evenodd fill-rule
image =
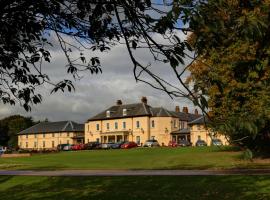
<path id="1" fill-rule="evenodd" d="M 127 109 L 127 115 L 123 115 L 123 109 Z M 106 112 L 110 111 L 110 117 L 106 116 Z M 151 107 L 144 103 L 115 105 L 104 110 L 103 112 L 88 119 L 88 121 L 104 120 L 104 119 L 119 119 L 126 117 L 139 117 L 139 116 L 151 116 L 151 117 L 177 117 L 183 121 L 193 121 L 201 115 L 195 115 L 191 113 L 174 112 L 169 111 L 163 107 Z"/>

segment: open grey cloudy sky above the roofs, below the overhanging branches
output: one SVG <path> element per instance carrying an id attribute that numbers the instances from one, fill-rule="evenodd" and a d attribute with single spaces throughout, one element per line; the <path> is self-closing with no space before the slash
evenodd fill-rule
<path id="1" fill-rule="evenodd" d="M 51 62 L 43 66 L 43 70 L 51 80 L 57 82 L 64 78 L 71 78 L 66 73 L 66 59 L 63 52 L 55 46 L 51 55 Z M 93 52 L 86 51 L 85 55 L 86 57 L 93 56 Z M 164 92 L 145 83 L 136 82 L 132 72 L 133 64 L 124 45 L 117 45 L 111 51 L 98 53 L 97 56 L 101 59 L 103 73 L 82 74 L 82 79 L 73 82 L 75 92 L 62 93 L 60 91 L 51 94 L 52 87 L 44 85 L 38 88 L 43 101 L 41 104 L 32 106 L 31 112 L 26 112 L 19 104 L 15 106 L 0 104 L 0 119 L 20 114 L 32 116 L 34 120 L 47 118 L 49 121 L 72 120 L 84 123 L 90 117 L 115 105 L 119 99 L 123 104 L 139 103 L 142 96 L 147 97 L 148 104 L 153 107 L 174 110 L 175 106 L 180 106 L 181 109 L 183 106 L 188 106 L 189 111 L 194 112 L 194 106 L 188 100 L 171 99 Z M 151 62 L 151 69 L 165 80 L 178 84 L 168 64 L 155 63 L 152 56 L 145 50 L 136 52 L 136 56 L 141 62 Z"/>

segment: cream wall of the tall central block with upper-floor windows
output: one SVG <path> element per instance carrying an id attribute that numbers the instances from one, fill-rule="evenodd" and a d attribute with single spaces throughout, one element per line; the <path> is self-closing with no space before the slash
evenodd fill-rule
<path id="1" fill-rule="evenodd" d="M 155 121 L 155 127 L 151 127 L 152 120 Z M 175 120 L 175 127 L 174 127 Z M 137 128 L 137 121 L 140 122 L 140 127 Z M 118 123 L 118 129 L 115 129 L 115 122 Z M 123 129 L 123 122 L 126 122 L 126 129 Z M 109 129 L 107 129 L 107 123 L 109 123 Z M 96 130 L 96 126 L 99 124 L 100 130 Z M 113 133 L 117 131 L 129 131 L 128 140 L 136 142 L 137 137 L 140 137 L 140 143 L 145 143 L 146 140 L 151 139 L 152 136 L 160 144 L 168 145 L 171 140 L 170 133 L 175 130 L 179 130 L 179 119 L 173 117 L 134 117 L 134 118 L 122 118 L 122 119 L 108 119 L 90 121 L 85 124 L 85 142 L 96 141 L 99 138 L 101 141 L 102 133 Z"/>

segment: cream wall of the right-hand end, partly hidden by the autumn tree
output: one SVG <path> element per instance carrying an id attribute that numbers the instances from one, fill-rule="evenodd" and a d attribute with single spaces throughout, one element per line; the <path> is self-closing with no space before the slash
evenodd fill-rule
<path id="1" fill-rule="evenodd" d="M 190 129 L 190 140 L 192 145 L 194 146 L 198 140 L 198 137 L 201 136 L 201 140 L 204 140 L 207 143 L 207 145 L 210 146 L 211 145 L 211 137 L 209 135 L 210 133 L 213 135 L 213 133 L 210 130 L 206 130 L 204 125 L 197 125 L 197 124 L 192 125 Z M 213 135 L 212 138 L 220 139 L 223 145 L 229 144 L 224 135 L 217 134 L 216 136 Z"/>

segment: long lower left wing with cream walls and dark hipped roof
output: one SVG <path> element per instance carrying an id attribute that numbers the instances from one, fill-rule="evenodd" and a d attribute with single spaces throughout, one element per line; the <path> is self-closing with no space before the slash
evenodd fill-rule
<path id="1" fill-rule="evenodd" d="M 23 149 L 54 149 L 58 144 L 84 143 L 84 125 L 73 121 L 41 122 L 18 133 Z"/>

